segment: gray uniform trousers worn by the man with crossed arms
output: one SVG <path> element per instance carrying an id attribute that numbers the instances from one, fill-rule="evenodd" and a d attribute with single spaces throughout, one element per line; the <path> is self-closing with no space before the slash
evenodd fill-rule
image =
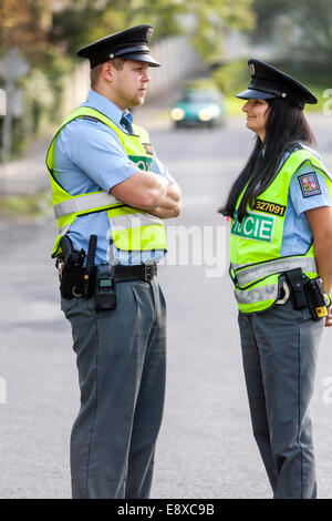
<path id="1" fill-rule="evenodd" d="M 114 310 L 62 298 L 81 408 L 71 436 L 73 498 L 148 498 L 164 407 L 166 306 L 156 279 L 117 283 Z"/>

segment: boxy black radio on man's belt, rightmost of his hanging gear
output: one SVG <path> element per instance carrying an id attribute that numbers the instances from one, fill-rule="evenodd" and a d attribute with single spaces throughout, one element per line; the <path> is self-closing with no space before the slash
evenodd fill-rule
<path id="1" fill-rule="evenodd" d="M 116 286 L 114 267 L 102 263 L 95 268 L 95 309 L 116 308 Z"/>

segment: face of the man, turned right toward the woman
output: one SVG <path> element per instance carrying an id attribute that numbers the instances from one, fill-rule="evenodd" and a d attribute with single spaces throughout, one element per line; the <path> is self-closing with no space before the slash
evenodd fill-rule
<path id="1" fill-rule="evenodd" d="M 141 61 L 125 60 L 123 68 L 112 70 L 112 90 L 117 105 L 125 110 L 144 103 L 146 84 L 149 82 L 148 64 Z"/>

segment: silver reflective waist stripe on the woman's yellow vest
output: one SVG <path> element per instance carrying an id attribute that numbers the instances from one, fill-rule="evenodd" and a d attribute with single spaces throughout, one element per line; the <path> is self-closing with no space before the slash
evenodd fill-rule
<path id="1" fill-rule="evenodd" d="M 231 267 L 234 267 L 234 265 L 231 265 Z M 303 272 L 317 273 L 317 265 L 313 257 L 287 257 L 276 258 L 258 265 L 250 265 L 237 272 L 236 276 L 238 285 L 243 287 L 269 275 L 288 272 L 293 268 L 302 268 Z"/>

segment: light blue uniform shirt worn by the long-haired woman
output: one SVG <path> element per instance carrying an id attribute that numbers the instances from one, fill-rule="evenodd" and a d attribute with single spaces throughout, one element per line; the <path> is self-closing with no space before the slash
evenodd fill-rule
<path id="1" fill-rule="evenodd" d="M 304 145 L 302 145 L 304 146 Z M 305 146 L 304 146 L 305 147 Z M 309 149 L 309 147 L 307 147 Z M 317 157 L 319 154 L 309 149 Z M 287 153 L 283 163 L 289 156 Z M 319 190 L 315 195 L 303 196 L 299 177 L 310 173 L 315 174 Z M 320 206 L 332 206 L 332 201 L 325 177 L 312 165 L 305 163 L 292 176 L 288 194 L 287 212 L 284 215 L 284 227 L 280 254 L 303 255 L 308 252 L 312 243 L 312 232 L 304 212 Z"/>

